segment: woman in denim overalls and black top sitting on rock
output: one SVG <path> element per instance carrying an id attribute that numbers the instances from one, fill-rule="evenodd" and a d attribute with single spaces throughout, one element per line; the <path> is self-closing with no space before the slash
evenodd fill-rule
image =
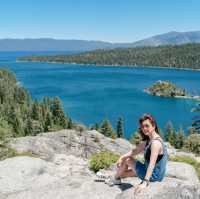
<path id="1" fill-rule="evenodd" d="M 115 177 L 105 181 L 112 186 L 121 184 L 121 178 L 138 176 L 142 181 L 135 187 L 135 193 L 148 186 L 149 182 L 163 180 L 168 159 L 166 146 L 154 118 L 150 114 L 144 114 L 139 119 L 139 124 L 139 132 L 146 142 L 122 155 L 117 161 Z M 133 158 L 142 151 L 144 151 L 144 164 Z"/>

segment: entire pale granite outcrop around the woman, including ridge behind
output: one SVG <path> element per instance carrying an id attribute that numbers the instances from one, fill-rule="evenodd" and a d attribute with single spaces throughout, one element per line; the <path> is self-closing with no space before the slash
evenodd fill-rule
<path id="1" fill-rule="evenodd" d="M 68 142 L 68 136 L 76 142 Z M 162 182 L 150 183 L 134 195 L 137 177 L 123 179 L 120 186 L 109 187 L 95 181 L 88 168 L 83 144 L 88 144 L 88 157 L 100 150 L 125 153 L 133 146 L 123 139 L 112 140 L 97 131 L 63 130 L 18 138 L 11 146 L 19 151 L 31 151 L 38 157 L 19 156 L 0 161 L 1 199 L 186 199 L 200 198 L 200 184 L 191 165 L 168 162 L 167 175 Z M 70 145 L 69 145 L 70 144 Z M 99 148 L 100 147 L 100 148 Z M 106 172 L 113 174 L 115 165 Z"/>

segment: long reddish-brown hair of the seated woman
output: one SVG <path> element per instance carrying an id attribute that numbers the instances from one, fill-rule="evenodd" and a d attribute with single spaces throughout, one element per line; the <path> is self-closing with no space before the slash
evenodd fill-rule
<path id="1" fill-rule="evenodd" d="M 142 123 L 145 121 L 145 120 L 149 120 L 150 123 L 155 126 L 155 132 L 157 134 L 159 134 L 161 136 L 161 133 L 160 133 L 160 130 L 158 128 L 158 125 L 157 125 L 157 122 L 156 120 L 153 118 L 152 115 L 150 115 L 149 113 L 145 113 L 142 115 L 142 117 L 139 118 L 139 129 L 138 129 L 138 132 L 140 133 L 140 135 L 142 136 L 142 139 L 143 140 L 146 140 L 147 142 L 149 142 L 149 136 L 145 135 L 143 132 L 142 132 Z"/>

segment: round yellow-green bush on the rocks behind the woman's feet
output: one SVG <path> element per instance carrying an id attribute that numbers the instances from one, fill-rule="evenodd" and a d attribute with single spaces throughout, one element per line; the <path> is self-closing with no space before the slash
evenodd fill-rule
<path id="1" fill-rule="evenodd" d="M 119 159 L 119 155 L 110 151 L 104 151 L 92 155 L 90 159 L 90 169 L 94 172 L 100 169 L 107 169 Z"/>

